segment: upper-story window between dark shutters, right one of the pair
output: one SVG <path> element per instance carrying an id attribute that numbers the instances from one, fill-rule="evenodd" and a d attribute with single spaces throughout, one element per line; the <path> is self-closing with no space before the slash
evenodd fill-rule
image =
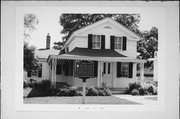
<path id="1" fill-rule="evenodd" d="M 122 37 L 114 37 L 114 49 L 123 49 L 123 38 Z"/>

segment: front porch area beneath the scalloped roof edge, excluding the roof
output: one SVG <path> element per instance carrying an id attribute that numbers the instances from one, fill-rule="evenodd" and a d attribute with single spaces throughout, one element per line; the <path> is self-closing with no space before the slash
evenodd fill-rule
<path id="1" fill-rule="evenodd" d="M 74 76 L 75 62 L 79 60 L 51 59 L 49 62 L 49 79 L 52 85 L 67 83 L 70 86 L 82 87 L 82 80 Z M 87 86 L 101 87 L 106 84 L 109 88 L 126 88 L 129 82 L 137 81 L 136 62 L 132 63 L 132 72 L 126 77 L 117 77 L 117 62 L 92 61 L 94 62 L 94 78 L 87 79 Z M 123 63 L 121 61 L 121 63 Z M 126 62 L 129 63 L 129 62 Z M 141 63 L 140 79 L 144 80 L 144 63 Z M 129 67 L 128 67 L 129 68 Z M 132 73 L 132 74 L 130 74 Z M 130 76 L 131 75 L 131 76 Z"/>

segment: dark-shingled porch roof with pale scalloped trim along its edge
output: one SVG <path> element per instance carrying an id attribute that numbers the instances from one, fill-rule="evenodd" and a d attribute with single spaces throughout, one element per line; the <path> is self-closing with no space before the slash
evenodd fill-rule
<path id="1" fill-rule="evenodd" d="M 90 61 L 106 61 L 106 62 L 136 62 L 145 63 L 146 60 L 130 58 L 124 56 L 114 50 L 104 49 L 88 49 L 88 48 L 75 48 L 69 53 L 61 55 L 50 55 L 50 59 L 64 59 L 64 60 L 90 60 Z"/>

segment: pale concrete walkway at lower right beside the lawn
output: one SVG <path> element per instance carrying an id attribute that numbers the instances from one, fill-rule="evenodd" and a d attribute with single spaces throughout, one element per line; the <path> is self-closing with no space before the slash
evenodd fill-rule
<path id="1" fill-rule="evenodd" d="M 157 95 L 132 96 L 132 95 L 113 95 L 114 97 L 137 102 L 142 105 L 156 105 L 158 103 Z"/>

